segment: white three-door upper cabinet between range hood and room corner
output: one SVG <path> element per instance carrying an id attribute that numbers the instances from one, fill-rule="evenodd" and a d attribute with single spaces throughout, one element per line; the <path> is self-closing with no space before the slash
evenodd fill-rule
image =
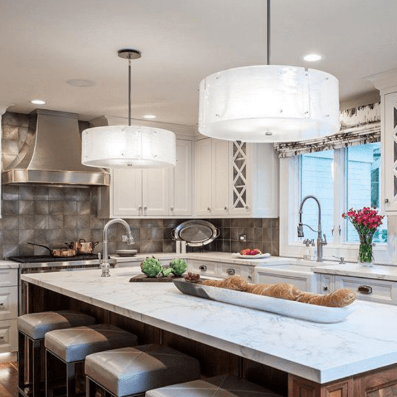
<path id="1" fill-rule="evenodd" d="M 139 218 L 192 214 L 192 142 L 177 139 L 172 168 L 113 169 L 110 188 L 100 188 L 98 216 Z"/>

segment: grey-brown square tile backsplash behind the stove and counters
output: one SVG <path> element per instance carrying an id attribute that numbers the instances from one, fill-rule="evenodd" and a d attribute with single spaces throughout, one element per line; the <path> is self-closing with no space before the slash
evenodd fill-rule
<path id="1" fill-rule="evenodd" d="M 26 139 L 27 115 L 6 112 L 2 116 L 3 147 L 16 147 Z M 8 145 L 8 146 L 7 146 Z M 13 159 L 3 150 L 2 165 Z M 65 242 L 99 241 L 95 252 L 102 250 L 102 231 L 106 219 L 97 213 L 97 188 L 2 186 L 0 219 L 0 258 L 13 255 L 47 255 L 48 250 L 28 242 L 51 248 L 64 247 Z M 175 252 L 171 232 L 186 219 L 127 219 L 135 244 L 122 242 L 124 228 L 109 229 L 109 253 L 117 249 L 134 248 L 140 253 Z M 279 255 L 278 219 L 225 218 L 207 219 L 220 230 L 219 237 L 202 248 L 188 251 L 239 252 L 244 248 L 259 248 L 262 252 Z M 240 236 L 245 235 L 246 241 Z"/>

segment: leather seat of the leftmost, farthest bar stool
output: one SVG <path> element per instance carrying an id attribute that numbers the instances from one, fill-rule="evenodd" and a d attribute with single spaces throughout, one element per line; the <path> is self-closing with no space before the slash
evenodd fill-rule
<path id="1" fill-rule="evenodd" d="M 43 339 L 46 332 L 95 324 L 95 318 L 74 310 L 24 314 L 18 317 L 18 331 L 31 339 Z"/>

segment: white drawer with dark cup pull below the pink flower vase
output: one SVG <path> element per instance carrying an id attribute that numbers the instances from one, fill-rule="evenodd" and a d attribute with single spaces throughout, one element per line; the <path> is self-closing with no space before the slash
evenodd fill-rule
<path id="1" fill-rule="evenodd" d="M 335 276 L 335 289 L 350 288 L 358 299 L 395 304 L 397 282 L 349 276 Z"/>

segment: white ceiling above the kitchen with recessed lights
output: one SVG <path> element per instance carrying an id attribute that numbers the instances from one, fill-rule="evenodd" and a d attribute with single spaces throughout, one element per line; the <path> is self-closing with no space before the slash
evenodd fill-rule
<path id="1" fill-rule="evenodd" d="M 396 16 L 396 0 L 272 0 L 270 62 L 330 72 L 341 101 L 376 97 L 364 77 L 397 67 Z M 127 117 L 117 51 L 134 48 L 132 118 L 193 126 L 203 77 L 266 62 L 265 0 L 1 0 L 0 18 L 0 102 L 13 112 L 40 98 L 81 120 Z M 306 63 L 308 52 L 326 59 Z"/>

